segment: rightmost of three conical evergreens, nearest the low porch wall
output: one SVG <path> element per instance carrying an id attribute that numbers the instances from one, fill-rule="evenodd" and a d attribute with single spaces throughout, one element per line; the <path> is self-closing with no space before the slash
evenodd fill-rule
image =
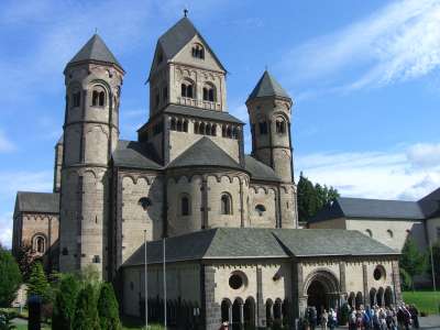
<path id="1" fill-rule="evenodd" d="M 98 299 L 98 314 L 101 330 L 120 330 L 119 306 L 114 295 L 113 286 L 103 283 Z"/>

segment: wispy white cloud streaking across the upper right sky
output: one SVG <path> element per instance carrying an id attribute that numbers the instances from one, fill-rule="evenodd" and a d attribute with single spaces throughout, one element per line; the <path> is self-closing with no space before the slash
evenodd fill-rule
<path id="1" fill-rule="evenodd" d="M 400 0 L 340 31 L 294 48 L 280 66 L 300 78 L 354 70 L 344 89 L 421 77 L 440 66 L 440 1 Z M 331 78 L 332 77 L 332 78 Z M 334 84 L 334 81 L 332 82 Z"/>

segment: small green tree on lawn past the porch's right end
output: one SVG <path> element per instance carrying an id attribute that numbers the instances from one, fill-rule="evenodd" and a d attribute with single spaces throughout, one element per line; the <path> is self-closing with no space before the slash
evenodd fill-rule
<path id="1" fill-rule="evenodd" d="M 410 277 L 414 289 L 414 277 L 421 275 L 427 270 L 427 255 L 420 253 L 415 241 L 408 237 L 399 260 L 399 267 L 403 268 Z"/>

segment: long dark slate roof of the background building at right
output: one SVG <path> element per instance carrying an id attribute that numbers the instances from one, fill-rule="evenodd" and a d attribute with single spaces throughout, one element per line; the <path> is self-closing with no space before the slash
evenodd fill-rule
<path id="1" fill-rule="evenodd" d="M 337 218 L 421 220 L 425 215 L 416 201 L 340 197 L 321 209 L 309 222 Z"/>

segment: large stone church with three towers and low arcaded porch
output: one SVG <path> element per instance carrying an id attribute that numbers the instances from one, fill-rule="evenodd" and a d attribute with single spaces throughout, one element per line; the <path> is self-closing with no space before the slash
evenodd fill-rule
<path id="1" fill-rule="evenodd" d="M 54 193 L 18 193 L 14 253 L 30 244 L 61 272 L 91 265 L 124 314 L 142 317 L 146 300 L 150 320 L 164 316 L 166 284 L 168 324 L 184 328 L 294 324 L 308 305 L 400 300 L 397 252 L 358 231 L 298 229 L 293 99 L 267 72 L 250 86 L 246 155 L 227 74 L 183 18 L 157 40 L 150 118 L 124 141 L 124 69 L 95 34 L 64 70 Z"/>

